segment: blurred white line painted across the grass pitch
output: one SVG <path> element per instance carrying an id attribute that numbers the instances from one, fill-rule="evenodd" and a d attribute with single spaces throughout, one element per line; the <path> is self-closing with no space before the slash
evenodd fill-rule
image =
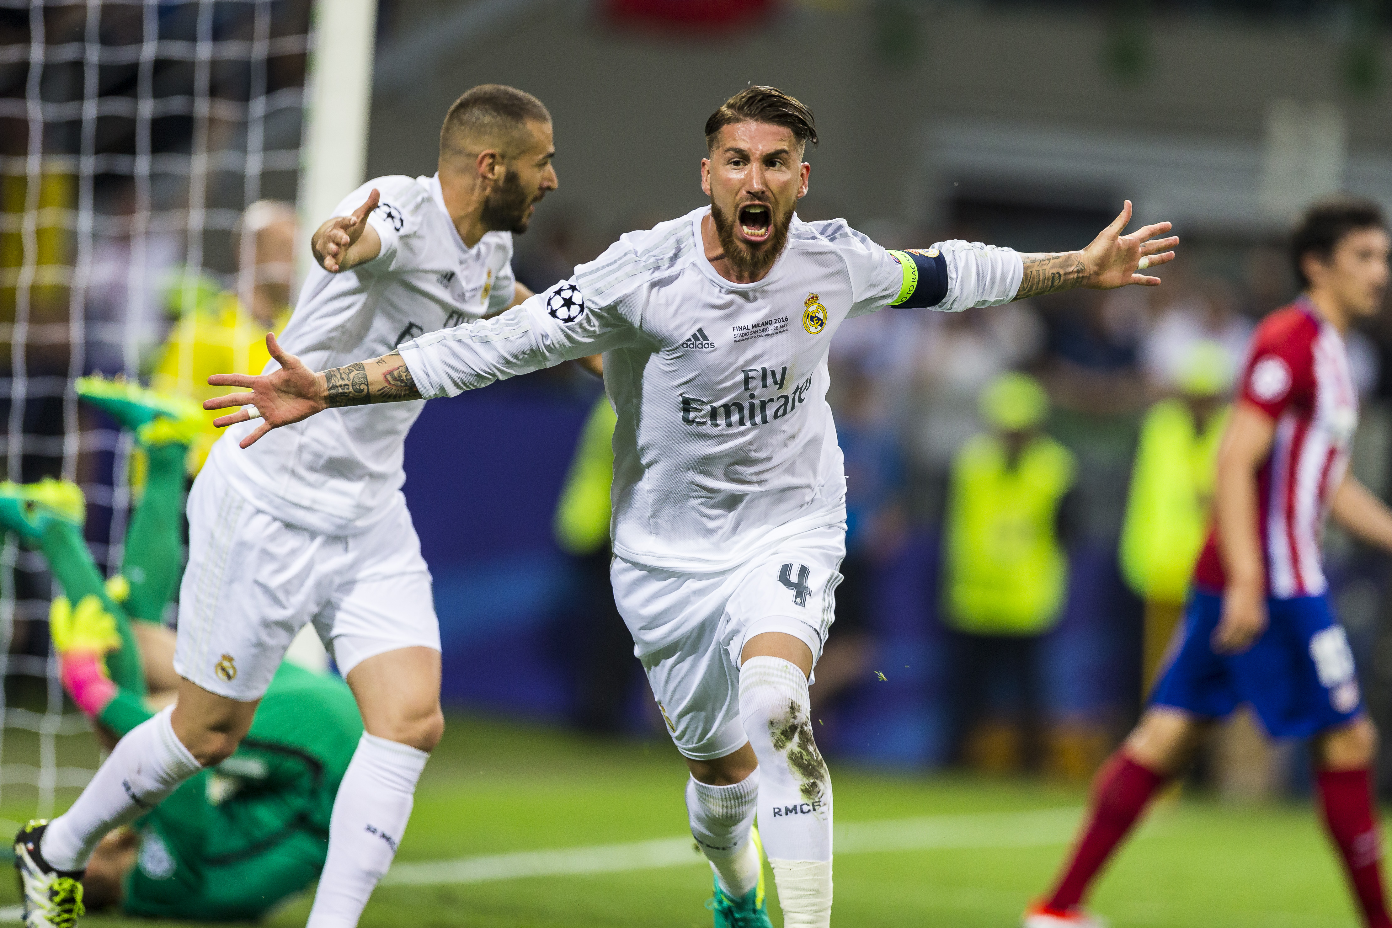
<path id="1" fill-rule="evenodd" d="M 1038 847 L 1065 845 L 1077 825 L 1079 807 L 1043 808 L 1029 813 L 987 813 L 974 815 L 922 815 L 837 826 L 837 854 L 866 854 L 896 850 Z M 625 845 L 596 845 L 555 850 L 525 850 L 511 854 L 461 857 L 395 864 L 384 886 L 430 886 L 482 883 L 521 877 L 564 877 L 614 874 L 704 864 L 690 838 L 658 838 Z"/>

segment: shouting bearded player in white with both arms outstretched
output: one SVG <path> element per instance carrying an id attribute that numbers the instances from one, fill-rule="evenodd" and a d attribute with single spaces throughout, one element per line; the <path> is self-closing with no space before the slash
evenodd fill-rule
<path id="1" fill-rule="evenodd" d="M 715 871 L 715 924 L 767 925 L 757 811 L 785 924 L 831 917 L 832 793 L 807 683 L 845 554 L 845 476 L 825 402 L 841 323 L 883 306 L 947 312 L 1069 287 L 1158 284 L 1168 223 L 1122 237 L 1130 205 L 1082 252 L 952 241 L 889 252 L 844 221 L 803 223 L 812 113 L 749 88 L 706 122 L 702 207 L 624 235 L 599 260 L 494 320 L 436 331 L 324 373 L 249 387 L 273 427 L 344 402 L 447 397 L 596 351 L 618 412 L 614 595 L 686 757 L 692 832 Z M 273 339 L 271 339 L 273 341 Z M 354 384 L 349 390 L 347 384 Z M 245 422 L 241 410 L 219 424 Z M 246 429 L 246 426 L 242 426 Z M 228 449 L 230 451 L 230 449 Z"/>

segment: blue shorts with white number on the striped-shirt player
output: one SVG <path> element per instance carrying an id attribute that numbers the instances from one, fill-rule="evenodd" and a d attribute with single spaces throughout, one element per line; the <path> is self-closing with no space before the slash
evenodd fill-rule
<path id="1" fill-rule="evenodd" d="M 1270 622 L 1242 654 L 1217 654 L 1211 639 L 1222 597 L 1194 590 L 1183 641 L 1150 697 L 1204 718 L 1249 703 L 1272 737 L 1308 737 L 1363 710 L 1349 639 L 1325 595 L 1267 598 Z"/>

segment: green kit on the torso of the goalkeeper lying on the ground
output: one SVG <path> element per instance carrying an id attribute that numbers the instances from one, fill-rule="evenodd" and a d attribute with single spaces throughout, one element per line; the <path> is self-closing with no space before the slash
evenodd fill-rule
<path id="1" fill-rule="evenodd" d="M 104 712 L 103 722 L 139 714 Z M 141 849 L 122 909 L 234 921 L 302 890 L 323 870 L 334 796 L 361 736 L 342 680 L 281 664 L 237 753 L 135 822 Z"/>

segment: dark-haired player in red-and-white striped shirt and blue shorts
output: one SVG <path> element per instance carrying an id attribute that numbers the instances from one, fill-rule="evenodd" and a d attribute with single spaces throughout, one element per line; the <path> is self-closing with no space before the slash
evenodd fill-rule
<path id="1" fill-rule="evenodd" d="M 1072 857 L 1026 928 L 1100 924 L 1079 907 L 1097 872 L 1204 732 L 1243 703 L 1272 737 L 1310 739 L 1324 821 L 1364 924 L 1392 925 L 1370 775 L 1377 732 L 1320 557 L 1328 515 L 1392 551 L 1392 511 L 1349 473 L 1359 397 L 1343 344 L 1382 305 L 1389 242 L 1381 210 L 1346 199 L 1317 203 L 1296 230 L 1303 292 L 1253 335 L 1183 636 L 1136 730 L 1097 775 Z"/>

